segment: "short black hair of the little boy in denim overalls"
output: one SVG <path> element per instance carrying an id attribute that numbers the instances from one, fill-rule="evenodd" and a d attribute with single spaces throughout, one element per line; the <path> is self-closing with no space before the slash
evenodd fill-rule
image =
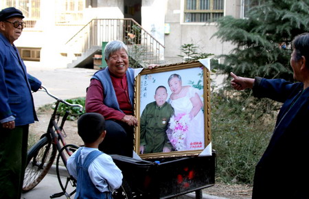
<path id="1" fill-rule="evenodd" d="M 99 113 L 85 113 L 78 119 L 78 134 L 84 143 L 95 142 L 105 130 L 105 119 Z"/>

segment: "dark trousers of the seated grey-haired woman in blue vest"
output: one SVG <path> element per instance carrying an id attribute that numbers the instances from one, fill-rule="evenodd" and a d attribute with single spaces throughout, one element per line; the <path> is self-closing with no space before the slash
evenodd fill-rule
<path id="1" fill-rule="evenodd" d="M 132 157 L 134 127 L 122 121 L 106 120 L 105 128 L 106 136 L 99 145 L 99 150 L 106 154 Z"/>

